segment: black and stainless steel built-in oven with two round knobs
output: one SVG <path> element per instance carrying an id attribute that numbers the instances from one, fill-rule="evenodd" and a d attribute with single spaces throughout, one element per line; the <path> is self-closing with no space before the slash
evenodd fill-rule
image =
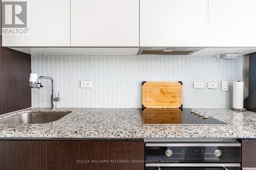
<path id="1" fill-rule="evenodd" d="M 238 170 L 241 143 L 149 142 L 145 143 L 146 170 Z"/>

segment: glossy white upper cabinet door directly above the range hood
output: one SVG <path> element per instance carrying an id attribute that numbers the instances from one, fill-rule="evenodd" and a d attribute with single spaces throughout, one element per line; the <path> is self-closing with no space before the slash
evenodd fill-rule
<path id="1" fill-rule="evenodd" d="M 207 46 L 207 0 L 140 0 L 140 46 Z"/>

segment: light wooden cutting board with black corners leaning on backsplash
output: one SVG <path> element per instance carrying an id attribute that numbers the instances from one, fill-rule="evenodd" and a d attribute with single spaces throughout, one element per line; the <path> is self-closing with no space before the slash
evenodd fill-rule
<path id="1" fill-rule="evenodd" d="M 182 108 L 182 82 L 142 82 L 142 108 Z"/>

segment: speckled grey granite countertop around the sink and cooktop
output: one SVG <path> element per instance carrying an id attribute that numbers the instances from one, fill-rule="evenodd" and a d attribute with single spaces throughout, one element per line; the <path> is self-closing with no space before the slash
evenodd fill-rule
<path id="1" fill-rule="evenodd" d="M 44 110 L 44 109 L 33 109 Z M 0 119 L 20 112 L 1 115 Z M 196 109 L 227 125 L 145 126 L 138 109 L 60 108 L 72 111 L 47 124 L 0 124 L 0 137 L 49 138 L 256 138 L 256 113 L 229 109 Z M 53 113 L 54 114 L 54 113 Z"/>

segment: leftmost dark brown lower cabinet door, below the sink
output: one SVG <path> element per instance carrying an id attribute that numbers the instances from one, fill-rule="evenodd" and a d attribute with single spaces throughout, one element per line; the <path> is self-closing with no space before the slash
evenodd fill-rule
<path id="1" fill-rule="evenodd" d="M 46 142 L 0 141 L 0 169 L 46 169 Z"/>

